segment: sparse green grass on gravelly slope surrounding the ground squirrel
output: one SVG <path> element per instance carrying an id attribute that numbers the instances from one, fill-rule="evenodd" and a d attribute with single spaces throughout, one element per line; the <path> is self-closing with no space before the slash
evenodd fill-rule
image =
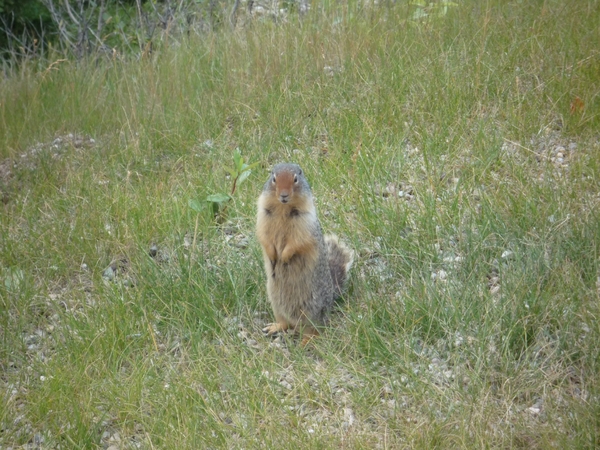
<path id="1" fill-rule="evenodd" d="M 600 2 L 409 12 L 0 80 L 0 448 L 600 445 Z M 357 255 L 306 350 L 260 332 L 288 160 Z"/>

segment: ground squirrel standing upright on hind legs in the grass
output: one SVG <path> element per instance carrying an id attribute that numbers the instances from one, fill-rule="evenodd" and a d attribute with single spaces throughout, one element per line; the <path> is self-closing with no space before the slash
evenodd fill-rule
<path id="1" fill-rule="evenodd" d="M 275 315 L 264 331 L 302 331 L 305 345 L 342 294 L 352 251 L 336 236 L 323 236 L 312 191 L 296 164 L 273 167 L 258 199 L 256 234 Z"/>

